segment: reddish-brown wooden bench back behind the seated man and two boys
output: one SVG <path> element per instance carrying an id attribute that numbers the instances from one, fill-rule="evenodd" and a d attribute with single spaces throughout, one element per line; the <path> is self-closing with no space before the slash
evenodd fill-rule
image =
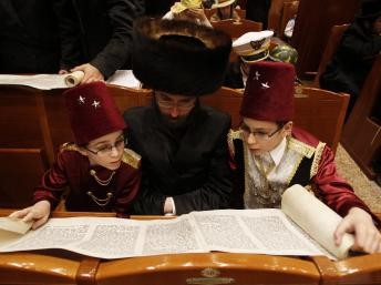
<path id="1" fill-rule="evenodd" d="M 109 91 L 121 112 L 148 104 L 153 95 L 151 90 L 116 85 L 109 85 Z M 296 125 L 336 151 L 347 96 L 306 86 L 296 93 Z M 202 103 L 229 113 L 234 129 L 241 120 L 241 91 L 229 88 L 200 98 Z M 28 205 L 42 173 L 54 162 L 59 146 L 73 141 L 62 90 L 0 86 L 0 206 L 22 207 Z"/>

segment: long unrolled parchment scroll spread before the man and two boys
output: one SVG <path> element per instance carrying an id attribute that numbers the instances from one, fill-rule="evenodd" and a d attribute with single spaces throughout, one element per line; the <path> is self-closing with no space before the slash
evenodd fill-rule
<path id="1" fill-rule="evenodd" d="M 353 237 L 348 235 L 337 247 L 333 231 L 341 217 L 321 205 L 303 187 L 295 185 L 285 192 L 282 210 L 192 212 L 154 221 L 50 218 L 24 235 L 0 231 L 0 252 L 62 248 L 100 258 L 123 258 L 220 251 L 343 258 Z"/>

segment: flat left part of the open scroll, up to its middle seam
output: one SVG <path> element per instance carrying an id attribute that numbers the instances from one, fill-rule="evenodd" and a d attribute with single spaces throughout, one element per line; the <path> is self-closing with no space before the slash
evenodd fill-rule
<path id="1" fill-rule="evenodd" d="M 186 215 L 165 221 L 50 218 L 25 235 L 0 235 L 0 252 L 47 248 L 68 250 L 99 258 L 207 252 Z"/>

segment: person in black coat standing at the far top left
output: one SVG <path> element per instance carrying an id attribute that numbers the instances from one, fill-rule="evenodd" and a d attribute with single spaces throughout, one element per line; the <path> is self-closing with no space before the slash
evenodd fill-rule
<path id="1" fill-rule="evenodd" d="M 0 1 L 1 73 L 59 72 L 61 8 L 52 0 Z"/>

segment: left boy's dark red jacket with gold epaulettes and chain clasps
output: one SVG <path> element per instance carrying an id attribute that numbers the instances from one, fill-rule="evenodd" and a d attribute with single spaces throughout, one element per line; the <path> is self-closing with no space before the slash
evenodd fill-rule
<path id="1" fill-rule="evenodd" d="M 91 170 L 102 181 L 111 177 L 110 183 L 101 185 L 90 174 Z M 141 183 L 138 155 L 124 150 L 121 166 L 112 173 L 113 171 L 102 166 L 90 165 L 89 159 L 78 152 L 74 144 L 69 144 L 61 149 L 56 162 L 43 175 L 41 184 L 34 191 L 33 202 L 48 200 L 54 208 L 69 186 L 65 196 L 68 211 L 116 212 L 119 216 L 128 215 Z M 107 193 L 111 193 L 110 199 Z"/>

